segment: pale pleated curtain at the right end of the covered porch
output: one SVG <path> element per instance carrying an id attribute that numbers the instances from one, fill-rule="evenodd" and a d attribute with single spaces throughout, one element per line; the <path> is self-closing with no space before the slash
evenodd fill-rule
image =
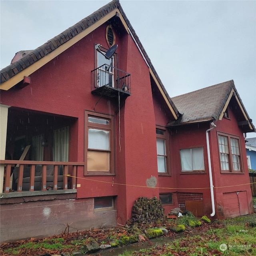
<path id="1" fill-rule="evenodd" d="M 54 130 L 53 159 L 58 162 L 68 162 L 69 127 Z"/>

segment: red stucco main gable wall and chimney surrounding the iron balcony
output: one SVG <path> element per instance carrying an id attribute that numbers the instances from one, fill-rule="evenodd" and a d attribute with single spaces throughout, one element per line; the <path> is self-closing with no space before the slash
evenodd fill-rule
<path id="1" fill-rule="evenodd" d="M 146 187 L 146 180 L 158 178 L 156 162 L 155 116 L 149 68 L 130 36 L 116 36 L 119 68 L 132 74 L 132 95 L 120 109 L 118 104 L 91 94 L 91 70 L 94 69 L 94 43 L 108 48 L 105 29 L 108 24 L 71 46 L 30 75 L 31 84 L 22 90 L 1 92 L 1 103 L 40 112 L 76 117 L 71 127 L 70 161 L 84 162 L 84 110 L 115 116 L 116 175 L 84 176 L 78 170 L 78 198 L 117 197 L 119 223 L 130 218 L 140 196 L 158 196 L 158 189 Z M 118 33 L 116 33 L 118 35 Z M 97 104 L 96 104 L 97 103 Z M 109 183 L 102 183 L 109 182 Z M 129 184 L 134 186 L 112 185 Z M 146 188 L 145 188 L 146 187 Z"/>

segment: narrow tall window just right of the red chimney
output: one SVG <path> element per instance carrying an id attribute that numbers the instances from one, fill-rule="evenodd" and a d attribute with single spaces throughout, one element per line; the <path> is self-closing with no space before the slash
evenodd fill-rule
<path id="1" fill-rule="evenodd" d="M 163 128 L 156 128 L 156 153 L 158 174 L 169 174 L 169 157 L 167 132 Z"/>

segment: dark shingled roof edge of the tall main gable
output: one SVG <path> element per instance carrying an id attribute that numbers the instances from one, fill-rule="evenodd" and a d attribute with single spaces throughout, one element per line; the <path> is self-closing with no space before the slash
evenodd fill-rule
<path id="1" fill-rule="evenodd" d="M 64 32 L 60 33 L 58 36 L 55 36 L 51 40 L 47 41 L 42 46 L 39 46 L 35 50 L 28 51 L 22 58 L 20 58 L 18 61 L 10 64 L 6 68 L 3 68 L 1 70 L 1 84 L 15 76 L 18 72 L 21 72 L 22 70 L 26 69 L 28 66 L 32 65 L 34 62 L 40 60 L 50 52 L 56 50 L 60 45 L 64 44 L 80 32 L 86 30 L 88 27 L 90 27 L 92 24 L 96 23 L 98 20 L 100 20 L 102 17 L 106 16 L 110 12 L 112 12 L 114 9 L 118 8 L 124 17 L 124 20 L 126 21 L 128 28 L 130 29 L 133 37 L 135 38 L 138 46 L 140 47 L 140 50 L 144 54 L 150 68 L 154 72 L 154 75 L 156 76 L 156 79 L 158 80 L 162 90 L 164 91 L 170 105 L 172 106 L 176 116 L 178 117 L 180 114 L 178 112 L 178 109 L 172 102 L 168 92 L 164 88 L 164 85 L 162 84 L 162 81 L 160 80 L 158 74 L 156 73 L 156 70 L 154 66 L 151 63 L 150 58 L 148 57 L 148 54 L 146 53 L 144 47 L 142 46 L 137 34 L 135 33 L 134 29 L 132 28 L 132 25 L 130 24 L 130 21 L 126 17 L 126 14 L 124 13 L 119 0 L 113 0 L 112 2 L 106 4 L 96 12 L 92 13 L 91 15 L 87 16 L 86 18 L 82 19 L 80 22 L 76 23 L 74 26 L 71 26 L 70 28 L 66 29 Z"/>

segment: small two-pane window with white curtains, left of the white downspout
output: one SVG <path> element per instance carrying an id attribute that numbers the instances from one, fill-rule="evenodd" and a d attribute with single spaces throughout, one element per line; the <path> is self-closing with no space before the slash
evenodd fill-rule
<path id="1" fill-rule="evenodd" d="M 204 172 L 204 149 L 181 149 L 180 161 L 182 172 Z"/>

